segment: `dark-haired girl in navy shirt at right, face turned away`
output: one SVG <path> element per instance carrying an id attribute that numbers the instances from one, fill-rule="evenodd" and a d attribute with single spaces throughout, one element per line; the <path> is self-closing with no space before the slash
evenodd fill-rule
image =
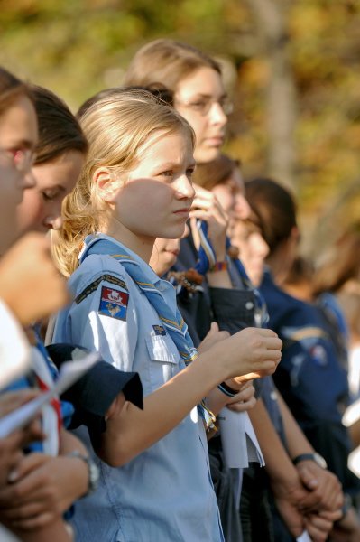
<path id="1" fill-rule="evenodd" d="M 355 496 L 360 482 L 347 468 L 351 444 L 341 421 L 348 399 L 346 370 L 339 363 L 322 311 L 282 289 L 299 242 L 295 201 L 282 185 L 263 178 L 246 183 L 246 197 L 261 219 L 270 248 L 261 292 L 269 310 L 269 327 L 283 341 L 275 384 L 329 470 L 337 474 L 344 491 Z M 311 460 L 326 464 L 316 454 Z M 359 536 L 358 522 L 353 529 Z"/>

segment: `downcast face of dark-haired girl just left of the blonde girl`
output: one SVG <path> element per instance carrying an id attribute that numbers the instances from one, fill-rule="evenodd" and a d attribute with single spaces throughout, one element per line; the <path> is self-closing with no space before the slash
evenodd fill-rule
<path id="1" fill-rule="evenodd" d="M 78 181 L 83 162 L 83 154 L 68 151 L 53 162 L 32 167 L 36 184 L 23 192 L 16 210 L 22 232 L 60 229 L 62 201 Z"/>

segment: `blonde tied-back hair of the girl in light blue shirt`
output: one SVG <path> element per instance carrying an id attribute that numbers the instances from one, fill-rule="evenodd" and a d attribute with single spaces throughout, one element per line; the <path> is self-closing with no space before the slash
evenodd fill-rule
<path id="1" fill-rule="evenodd" d="M 189 123 L 146 90 L 118 89 L 92 103 L 79 120 L 88 139 L 87 160 L 75 189 L 63 203 L 63 227 L 52 236 L 52 253 L 65 276 L 78 266 L 84 238 L 97 232 L 110 216 L 110 205 L 97 197 L 97 169 L 128 171 L 141 161 L 143 145 L 159 132 L 181 132 L 195 145 Z"/>

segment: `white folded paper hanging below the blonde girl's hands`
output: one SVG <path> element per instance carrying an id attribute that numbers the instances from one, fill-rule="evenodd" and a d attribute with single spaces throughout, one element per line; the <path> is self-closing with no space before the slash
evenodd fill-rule
<path id="1" fill-rule="evenodd" d="M 217 419 L 226 466 L 230 469 L 245 469 L 250 462 L 256 462 L 263 467 L 263 453 L 247 412 L 223 408 Z"/>

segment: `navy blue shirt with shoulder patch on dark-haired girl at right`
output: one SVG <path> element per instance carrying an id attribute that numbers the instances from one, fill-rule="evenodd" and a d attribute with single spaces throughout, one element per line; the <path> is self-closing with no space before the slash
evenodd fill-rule
<path id="1" fill-rule="evenodd" d="M 346 370 L 337 360 L 323 314 L 317 306 L 283 292 L 268 270 L 260 290 L 270 314 L 269 327 L 283 343 L 275 384 L 344 491 L 357 492 L 359 481 L 347 468 L 349 435 L 341 422 L 348 397 Z"/>

